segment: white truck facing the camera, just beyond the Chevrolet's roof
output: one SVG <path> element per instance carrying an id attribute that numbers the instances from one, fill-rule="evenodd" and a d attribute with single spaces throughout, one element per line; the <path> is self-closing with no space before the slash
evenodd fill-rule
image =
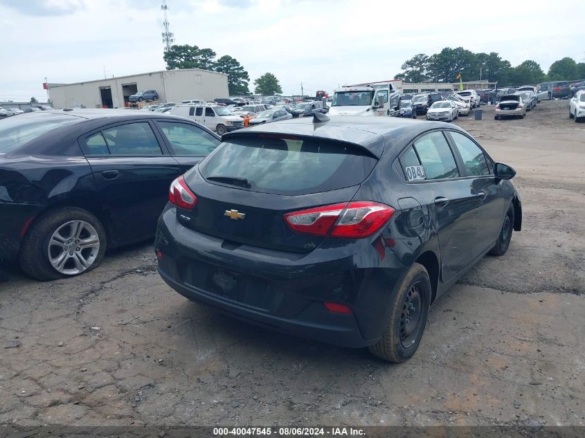
<path id="1" fill-rule="evenodd" d="M 343 86 L 334 90 L 330 116 L 393 116 L 400 109 L 400 93 L 392 82 Z"/>

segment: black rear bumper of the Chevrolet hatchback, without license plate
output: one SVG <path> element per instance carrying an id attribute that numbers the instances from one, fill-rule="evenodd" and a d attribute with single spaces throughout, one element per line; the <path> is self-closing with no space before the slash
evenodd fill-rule
<path id="1" fill-rule="evenodd" d="M 159 218 L 154 241 L 161 277 L 186 298 L 287 334 L 365 347 L 379 340 L 406 268 L 393 254 L 381 262 L 370 243 L 351 247 L 359 254 L 339 244 L 303 254 L 235 245 L 184 227 L 174 208 Z M 328 311 L 323 302 L 352 313 Z"/>

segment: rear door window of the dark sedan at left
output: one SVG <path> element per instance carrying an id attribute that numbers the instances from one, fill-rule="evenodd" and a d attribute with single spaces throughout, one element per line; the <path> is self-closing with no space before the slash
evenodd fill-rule
<path id="1" fill-rule="evenodd" d="M 104 129 L 102 134 L 111 155 L 162 155 L 147 122 L 129 123 Z"/>

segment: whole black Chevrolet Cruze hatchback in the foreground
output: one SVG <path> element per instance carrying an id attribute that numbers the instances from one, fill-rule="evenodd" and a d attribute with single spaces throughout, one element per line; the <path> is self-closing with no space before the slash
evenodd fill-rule
<path id="1" fill-rule="evenodd" d="M 520 230 L 514 170 L 451 124 L 319 118 L 226 134 L 175 180 L 159 273 L 244 321 L 404 361 L 433 301 Z"/>

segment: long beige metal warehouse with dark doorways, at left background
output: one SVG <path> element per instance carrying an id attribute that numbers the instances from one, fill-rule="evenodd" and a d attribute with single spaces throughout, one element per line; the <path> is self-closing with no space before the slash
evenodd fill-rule
<path id="1" fill-rule="evenodd" d="M 54 108 L 124 107 L 138 91 L 156 90 L 162 102 L 228 97 L 228 75 L 201 69 L 163 70 L 75 84 L 48 84 Z"/>

